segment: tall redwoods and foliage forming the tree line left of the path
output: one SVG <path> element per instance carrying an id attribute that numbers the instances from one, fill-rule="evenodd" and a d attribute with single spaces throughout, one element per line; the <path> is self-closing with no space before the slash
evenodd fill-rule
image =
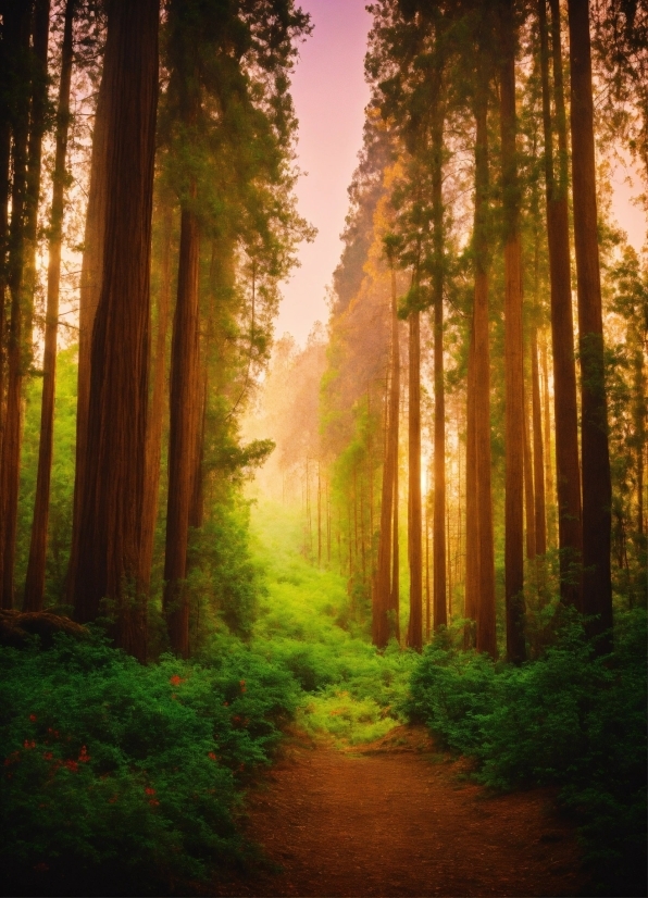
<path id="1" fill-rule="evenodd" d="M 289 93 L 310 27 L 291 0 L 3 4 L 3 608 L 107 619 L 115 644 L 145 660 L 161 598 L 171 647 L 189 653 L 196 546 L 272 448 L 241 445 L 238 422 L 267 358 L 277 285 L 311 233 L 292 195 Z M 65 258 L 79 251 L 71 289 Z M 77 302 L 61 312 L 65 277 Z M 51 477 L 71 311 L 76 441 L 61 532 Z M 38 400 L 34 483 L 21 446 L 25 402 L 33 416 Z M 55 584 L 53 542 L 65 568 Z M 226 600 L 212 604 L 225 613 Z M 245 629 L 249 611 L 233 625 Z"/>

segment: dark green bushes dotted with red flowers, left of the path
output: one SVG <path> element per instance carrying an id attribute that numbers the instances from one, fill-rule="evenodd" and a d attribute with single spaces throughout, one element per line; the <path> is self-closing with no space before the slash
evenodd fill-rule
<path id="1" fill-rule="evenodd" d="M 232 811 L 296 689 L 237 640 L 142 668 L 102 641 L 0 651 L 7 894 L 169 894 L 242 859 Z"/>

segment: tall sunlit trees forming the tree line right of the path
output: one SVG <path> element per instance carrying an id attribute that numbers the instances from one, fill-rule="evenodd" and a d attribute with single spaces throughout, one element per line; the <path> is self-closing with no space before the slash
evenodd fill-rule
<path id="1" fill-rule="evenodd" d="M 646 11 L 371 12 L 319 411 L 340 570 L 379 647 L 454 621 L 521 662 L 574 607 L 605 650 L 646 601 L 647 273 L 608 162 L 641 171 Z"/>

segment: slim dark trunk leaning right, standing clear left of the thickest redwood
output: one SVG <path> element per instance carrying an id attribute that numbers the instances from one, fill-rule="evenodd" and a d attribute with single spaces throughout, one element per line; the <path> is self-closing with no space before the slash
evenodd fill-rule
<path id="1" fill-rule="evenodd" d="M 72 25 L 75 0 L 65 4 L 63 46 L 61 50 L 61 80 L 57 113 L 57 151 L 52 187 L 52 212 L 47 272 L 47 311 L 45 320 L 45 351 L 42 359 L 42 402 L 40 410 L 40 444 L 32 542 L 25 583 L 25 611 L 40 611 L 45 594 L 47 528 L 50 506 L 50 477 L 54 429 L 54 389 L 57 382 L 57 339 L 59 332 L 59 288 L 61 280 L 61 242 L 63 227 L 63 196 L 65 189 L 65 157 L 70 128 L 70 85 L 72 80 Z"/>

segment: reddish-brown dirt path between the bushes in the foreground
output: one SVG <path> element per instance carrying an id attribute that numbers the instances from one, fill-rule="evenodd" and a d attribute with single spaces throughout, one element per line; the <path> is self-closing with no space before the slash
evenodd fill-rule
<path id="1" fill-rule="evenodd" d="M 363 752 L 294 745 L 250 795 L 249 835 L 279 872 L 216 894 L 578 895 L 574 833 L 551 795 L 488 797 L 460 773 L 404 727 Z"/>

